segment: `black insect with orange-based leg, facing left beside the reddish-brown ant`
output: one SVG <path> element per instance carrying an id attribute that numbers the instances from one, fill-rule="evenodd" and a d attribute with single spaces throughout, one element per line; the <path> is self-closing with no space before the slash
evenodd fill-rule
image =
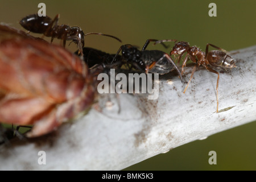
<path id="1" fill-rule="evenodd" d="M 170 55 L 159 50 L 145 50 L 150 42 L 156 41 L 158 40 L 148 39 L 141 51 L 135 46 L 125 44 L 118 49 L 112 62 L 115 61 L 115 58 L 122 50 L 123 60 L 126 60 L 127 63 L 131 64 L 135 69 L 146 73 L 159 73 L 163 75 L 171 72 L 175 68 L 180 75 L 181 82 L 184 82 L 179 68 Z"/>

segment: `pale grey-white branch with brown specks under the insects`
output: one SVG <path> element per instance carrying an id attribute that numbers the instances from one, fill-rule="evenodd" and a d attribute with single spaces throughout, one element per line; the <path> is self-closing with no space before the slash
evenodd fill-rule
<path id="1" fill-rule="evenodd" d="M 197 68 L 186 84 L 170 74 L 160 77 L 159 98 L 121 94 L 121 113 L 91 109 L 53 134 L 0 146 L 0 169 L 119 170 L 193 140 L 256 120 L 256 46 L 233 51 L 237 68 L 217 75 Z M 185 68 L 188 81 L 192 67 Z M 175 71 L 174 71 L 175 72 Z M 115 98 L 112 100 L 115 100 Z M 115 100 L 116 101 L 116 100 Z M 116 103 L 116 102 L 114 102 Z M 39 165 L 39 151 L 46 164 Z"/>

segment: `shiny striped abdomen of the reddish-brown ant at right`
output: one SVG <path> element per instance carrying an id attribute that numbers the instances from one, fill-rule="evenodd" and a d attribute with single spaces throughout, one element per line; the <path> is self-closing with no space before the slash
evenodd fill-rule
<path id="1" fill-rule="evenodd" d="M 232 69 L 236 67 L 234 59 L 227 53 L 219 50 L 208 52 L 207 60 L 211 66 L 216 68 Z"/>

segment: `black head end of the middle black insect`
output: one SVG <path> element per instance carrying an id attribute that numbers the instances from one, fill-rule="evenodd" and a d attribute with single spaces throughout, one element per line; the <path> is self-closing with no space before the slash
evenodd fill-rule
<path id="1" fill-rule="evenodd" d="M 123 58 L 127 61 L 138 62 L 141 58 L 141 51 L 137 47 L 126 44 L 121 46 Z"/>

